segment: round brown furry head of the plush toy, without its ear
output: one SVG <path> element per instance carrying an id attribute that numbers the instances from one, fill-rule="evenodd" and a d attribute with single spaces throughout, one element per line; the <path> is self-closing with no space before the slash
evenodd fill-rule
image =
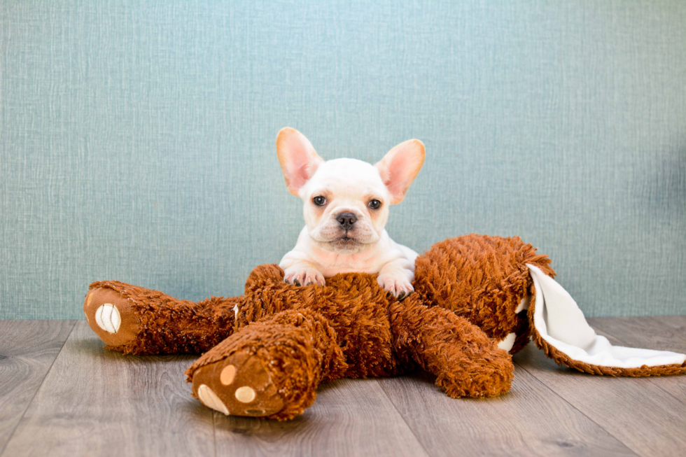
<path id="1" fill-rule="evenodd" d="M 519 237 L 469 234 L 447 239 L 416 259 L 414 288 L 427 303 L 467 318 L 496 341 L 515 332 L 514 353 L 528 342 L 528 319 L 515 312 L 531 294 L 526 264 L 554 276 L 547 255 L 535 251 Z"/>

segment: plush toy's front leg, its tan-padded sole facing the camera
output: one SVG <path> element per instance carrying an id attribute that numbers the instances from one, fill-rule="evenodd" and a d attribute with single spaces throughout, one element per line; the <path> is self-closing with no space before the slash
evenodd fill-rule
<path id="1" fill-rule="evenodd" d="M 223 414 L 292 419 L 323 381 L 346 370 L 333 328 L 309 310 L 281 311 L 251 323 L 188 370 L 193 395 Z"/>

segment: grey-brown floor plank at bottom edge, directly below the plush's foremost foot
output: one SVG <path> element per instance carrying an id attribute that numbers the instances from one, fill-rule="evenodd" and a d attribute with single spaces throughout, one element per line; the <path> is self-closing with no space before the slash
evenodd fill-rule
<path id="1" fill-rule="evenodd" d="M 217 455 L 426 456 L 379 386 L 379 379 L 340 379 L 293 421 L 216 414 Z"/>

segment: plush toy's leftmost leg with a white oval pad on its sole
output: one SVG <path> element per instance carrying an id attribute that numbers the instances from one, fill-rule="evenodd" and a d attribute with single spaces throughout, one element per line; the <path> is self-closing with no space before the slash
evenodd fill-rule
<path id="1" fill-rule="evenodd" d="M 83 312 L 111 351 L 135 354 L 202 353 L 233 332 L 242 297 L 176 300 L 118 281 L 90 285 Z"/>

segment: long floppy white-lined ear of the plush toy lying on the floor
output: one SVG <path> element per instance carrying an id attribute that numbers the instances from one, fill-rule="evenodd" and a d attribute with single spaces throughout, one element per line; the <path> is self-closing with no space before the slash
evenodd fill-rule
<path id="1" fill-rule="evenodd" d="M 526 265 L 534 296 L 528 312 L 533 339 L 561 365 L 591 374 L 654 376 L 686 372 L 686 355 L 612 346 L 596 335 L 569 293 L 534 265 Z M 531 312 L 533 311 L 533 312 Z"/>

